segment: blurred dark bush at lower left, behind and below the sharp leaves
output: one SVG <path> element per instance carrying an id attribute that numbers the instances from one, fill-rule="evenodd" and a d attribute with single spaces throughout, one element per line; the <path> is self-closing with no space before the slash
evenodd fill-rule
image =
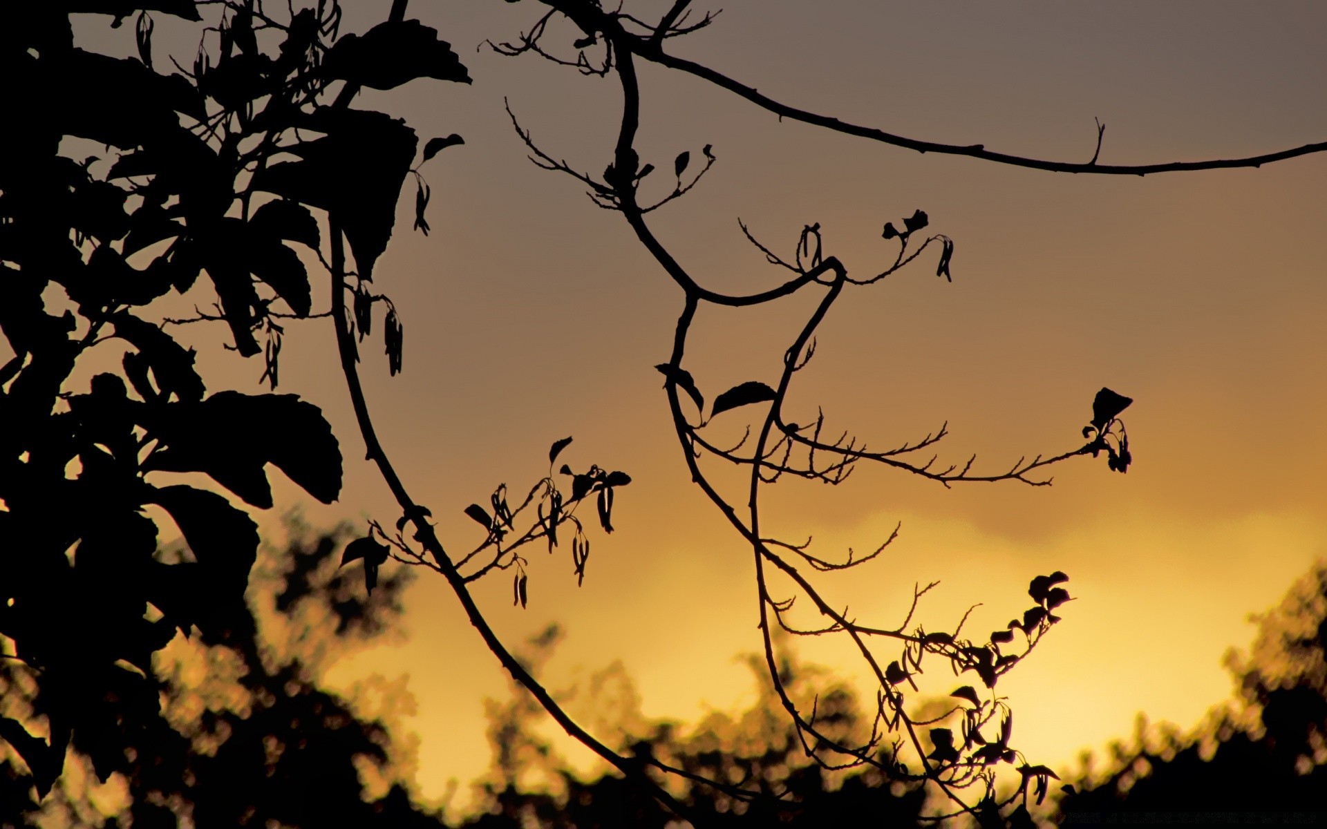
<path id="1" fill-rule="evenodd" d="M 329 658 L 395 625 L 410 580 L 398 569 L 364 601 L 362 578 L 337 565 L 348 535 L 342 527 L 314 536 L 292 524 L 289 546 L 261 557 L 252 607 L 238 614 L 226 643 L 176 638 L 158 655 L 147 675 L 162 695 L 161 715 L 143 715 L 139 730 L 117 733 L 113 759 L 84 749 L 102 751 L 104 743 L 74 741 L 72 763 L 86 759 L 97 768 L 114 760 L 130 800 L 119 817 L 135 828 L 170 829 L 442 825 L 395 780 L 398 749 L 386 723 L 361 716 L 321 683 Z M 261 607 L 271 610 L 255 611 Z M 41 710 L 37 679 L 27 666 L 0 665 L 7 715 Z M 123 704 L 114 712 L 123 714 Z M 366 776 L 380 777 L 382 791 L 370 792 Z M 61 814 L 85 825 L 97 816 L 65 779 L 38 805 L 11 761 L 0 763 L 0 804 L 5 826 L 37 826 Z"/>

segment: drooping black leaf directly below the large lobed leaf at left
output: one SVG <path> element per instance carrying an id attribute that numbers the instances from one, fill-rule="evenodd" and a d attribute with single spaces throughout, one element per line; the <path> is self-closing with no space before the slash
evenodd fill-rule
<path id="1" fill-rule="evenodd" d="M 240 593 L 257 558 L 257 525 L 242 509 L 215 492 L 194 487 L 150 487 L 143 499 L 170 513 L 184 542 L 202 566 L 204 578 Z"/>

